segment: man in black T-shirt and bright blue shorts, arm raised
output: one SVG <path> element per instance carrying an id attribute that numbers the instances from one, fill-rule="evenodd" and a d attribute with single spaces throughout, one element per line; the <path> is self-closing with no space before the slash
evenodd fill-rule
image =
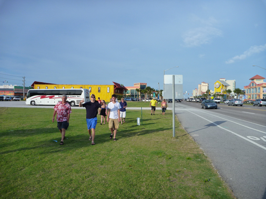
<path id="1" fill-rule="evenodd" d="M 86 108 L 86 121 L 87 121 L 87 127 L 88 127 L 88 132 L 90 135 L 89 141 L 92 141 L 92 145 L 95 145 L 94 138 L 95 138 L 95 129 L 97 125 L 97 113 L 99 108 L 103 108 L 104 105 L 101 105 L 98 103 L 98 101 L 95 100 L 95 95 L 91 95 L 91 101 L 84 102 L 84 99 L 82 99 L 79 102 L 79 107 L 85 107 Z M 101 100 L 103 103 L 103 101 Z"/>

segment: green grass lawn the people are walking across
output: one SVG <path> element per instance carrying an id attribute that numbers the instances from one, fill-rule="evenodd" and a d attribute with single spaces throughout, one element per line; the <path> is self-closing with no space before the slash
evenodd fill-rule
<path id="1" fill-rule="evenodd" d="M 52 109 L 0 108 L 1 198 L 234 198 L 177 120 L 172 138 L 170 111 L 142 112 L 137 126 L 141 112 L 127 111 L 116 142 L 98 124 L 91 145 L 85 110 L 73 109 L 61 146 Z"/>

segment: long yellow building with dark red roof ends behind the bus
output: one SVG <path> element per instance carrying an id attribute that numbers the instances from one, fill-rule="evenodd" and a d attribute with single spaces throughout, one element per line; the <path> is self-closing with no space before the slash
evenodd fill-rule
<path id="1" fill-rule="evenodd" d="M 109 101 L 112 94 L 123 95 L 123 91 L 127 90 L 124 85 L 113 82 L 113 85 L 56 85 L 56 84 L 41 84 L 36 82 L 34 89 L 68 89 L 68 88 L 87 88 L 90 94 L 95 94 L 96 100 L 100 99 Z"/>

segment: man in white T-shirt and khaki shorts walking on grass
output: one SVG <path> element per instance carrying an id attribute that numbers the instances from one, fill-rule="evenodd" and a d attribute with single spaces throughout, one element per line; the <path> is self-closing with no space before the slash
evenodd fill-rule
<path id="1" fill-rule="evenodd" d="M 115 136 L 120 122 L 120 109 L 120 104 L 116 102 L 116 95 L 113 94 L 112 102 L 108 104 L 107 122 L 109 122 L 109 128 L 111 130 L 110 139 L 112 139 L 114 136 L 114 141 L 116 141 Z"/>

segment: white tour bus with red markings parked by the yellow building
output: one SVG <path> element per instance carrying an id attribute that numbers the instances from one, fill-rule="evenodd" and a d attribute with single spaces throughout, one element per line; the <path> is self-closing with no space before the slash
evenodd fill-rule
<path id="1" fill-rule="evenodd" d="M 71 107 L 78 105 L 84 99 L 90 101 L 89 89 L 30 89 L 27 93 L 26 105 L 56 105 L 62 101 L 62 95 L 66 95 L 66 101 Z"/>

